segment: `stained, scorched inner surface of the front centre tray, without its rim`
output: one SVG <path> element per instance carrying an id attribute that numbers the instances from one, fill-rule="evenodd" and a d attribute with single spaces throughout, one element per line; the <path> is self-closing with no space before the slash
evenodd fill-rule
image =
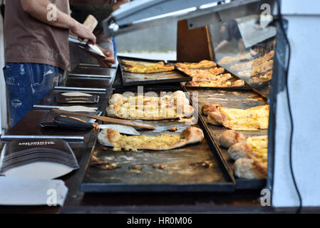
<path id="1" fill-rule="evenodd" d="M 165 128 L 177 125 L 175 121 L 165 122 L 162 126 L 157 126 L 158 133 L 143 132 L 143 135 L 158 135 Z M 177 127 L 181 131 L 186 126 L 179 125 Z M 100 160 L 110 161 L 121 167 L 115 170 L 100 170 L 98 167 L 90 167 L 86 182 L 90 182 L 90 180 L 124 184 L 227 182 L 205 140 L 195 145 L 164 151 L 114 152 L 111 148 L 103 150 L 103 146 L 97 145 L 94 153 Z M 204 162 L 210 167 L 202 167 Z M 153 165 L 159 164 L 165 168 L 161 170 L 153 167 Z M 133 171 L 130 169 L 133 165 L 142 165 L 142 170 Z"/>

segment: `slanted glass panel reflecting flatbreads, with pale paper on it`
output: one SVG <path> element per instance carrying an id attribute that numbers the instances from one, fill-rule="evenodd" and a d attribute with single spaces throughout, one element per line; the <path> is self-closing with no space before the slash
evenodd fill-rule
<path id="1" fill-rule="evenodd" d="M 209 26 L 215 61 L 269 96 L 277 29 L 259 15 L 222 21 Z"/>

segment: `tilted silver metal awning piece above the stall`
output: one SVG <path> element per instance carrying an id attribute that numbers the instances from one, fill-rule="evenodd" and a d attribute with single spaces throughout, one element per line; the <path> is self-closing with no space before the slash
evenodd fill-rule
<path id="1" fill-rule="evenodd" d="M 198 28 L 219 21 L 227 21 L 256 14 L 259 0 L 185 1 L 141 0 L 124 4 L 103 21 L 105 36 L 115 36 L 171 21 L 188 20 L 188 27 Z M 234 11 L 237 8 L 237 11 Z"/>

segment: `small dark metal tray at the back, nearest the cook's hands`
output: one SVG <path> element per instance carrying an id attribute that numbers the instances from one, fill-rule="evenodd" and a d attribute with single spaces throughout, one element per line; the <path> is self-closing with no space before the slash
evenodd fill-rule
<path id="1" fill-rule="evenodd" d="M 162 60 L 150 60 L 145 58 L 131 58 L 118 56 L 120 73 L 122 76 L 123 86 L 143 86 L 160 83 L 180 83 L 183 81 L 191 81 L 192 78 L 185 73 L 177 71 L 167 71 L 160 73 L 130 73 L 124 71 L 124 66 L 121 60 L 130 61 L 145 61 L 150 63 L 157 63 Z"/>

